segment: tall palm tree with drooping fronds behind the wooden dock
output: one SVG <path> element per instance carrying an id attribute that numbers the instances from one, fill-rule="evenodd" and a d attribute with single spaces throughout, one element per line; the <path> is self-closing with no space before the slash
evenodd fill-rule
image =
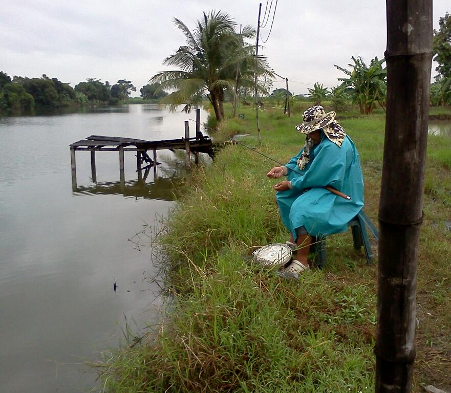
<path id="1" fill-rule="evenodd" d="M 224 119 L 224 91 L 232 90 L 239 70 L 241 85 L 245 85 L 255 71 L 272 75 L 262 56 L 255 59 L 244 39 L 255 36 L 255 30 L 245 26 L 241 34 L 235 32 L 236 23 L 221 11 L 204 13 L 191 32 L 180 20 L 175 25 L 183 31 L 186 45 L 167 57 L 163 64 L 176 65 L 180 70 L 163 71 L 149 82 L 161 83 L 161 90 L 172 90 L 160 102 L 170 105 L 185 104 L 184 110 L 199 104 L 208 92 L 217 120 Z"/>

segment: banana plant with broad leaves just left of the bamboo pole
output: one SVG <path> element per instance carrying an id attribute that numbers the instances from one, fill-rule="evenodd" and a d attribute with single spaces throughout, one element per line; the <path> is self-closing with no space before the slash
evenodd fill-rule
<path id="1" fill-rule="evenodd" d="M 385 59 L 377 57 L 371 60 L 370 66 L 364 63 L 361 56 L 352 57 L 354 64 L 348 64 L 350 70 L 335 65 L 335 68 L 344 72 L 348 78 L 338 78 L 341 86 L 348 89 L 353 103 L 359 105 L 360 113 L 371 114 L 378 103 L 385 107 L 386 97 L 386 69 L 382 68 Z"/>

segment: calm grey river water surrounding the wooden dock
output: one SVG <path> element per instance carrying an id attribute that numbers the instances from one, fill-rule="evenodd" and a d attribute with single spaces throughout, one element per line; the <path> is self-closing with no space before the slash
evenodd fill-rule
<path id="1" fill-rule="evenodd" d="M 118 345 L 125 318 L 132 330 L 155 322 L 152 250 L 128 239 L 145 242 L 173 206 L 184 156 L 158 152 L 157 178 L 138 182 L 125 152 L 121 185 L 117 152 L 96 154 L 93 183 L 89 151 L 77 151 L 73 189 L 69 144 L 181 138 L 193 117 L 130 105 L 0 118 L 0 392 L 87 391 L 95 375 L 83 362 Z"/>

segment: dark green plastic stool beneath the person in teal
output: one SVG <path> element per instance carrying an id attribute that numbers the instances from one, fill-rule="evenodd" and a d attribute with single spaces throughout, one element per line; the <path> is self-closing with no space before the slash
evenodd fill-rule
<path id="1" fill-rule="evenodd" d="M 363 246 L 365 256 L 367 258 L 367 264 L 370 265 L 373 253 L 371 251 L 367 228 L 373 234 L 376 242 L 378 242 L 379 232 L 377 228 L 371 222 L 368 215 L 363 212 L 363 210 L 360 210 L 360 212 L 348 223 L 348 227 L 351 227 L 352 230 L 354 248 L 359 250 Z M 322 269 L 326 265 L 326 237 L 313 236 L 310 251 L 315 253 L 315 265 Z"/>

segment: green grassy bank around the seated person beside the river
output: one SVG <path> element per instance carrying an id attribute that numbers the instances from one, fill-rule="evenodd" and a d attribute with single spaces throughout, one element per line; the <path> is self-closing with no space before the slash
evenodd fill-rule
<path id="1" fill-rule="evenodd" d="M 308 106 L 306 103 L 304 106 Z M 302 147 L 291 118 L 260 113 L 261 151 L 287 162 Z M 377 223 L 384 115 L 340 113 L 356 143 L 366 182 L 367 214 Z M 221 133 L 255 135 L 253 111 L 228 119 Z M 244 143 L 256 145 L 248 137 Z M 418 271 L 415 391 L 451 386 L 451 140 L 428 143 L 424 225 Z M 161 247 L 171 297 L 164 324 L 139 345 L 105 354 L 104 391 L 374 391 L 375 264 L 355 251 L 350 231 L 328 238 L 325 269 L 299 281 L 248 266 L 249 248 L 284 242 L 272 184 L 273 163 L 239 145 L 196 170 L 167 221 Z M 376 247 L 375 247 L 376 248 Z"/>

